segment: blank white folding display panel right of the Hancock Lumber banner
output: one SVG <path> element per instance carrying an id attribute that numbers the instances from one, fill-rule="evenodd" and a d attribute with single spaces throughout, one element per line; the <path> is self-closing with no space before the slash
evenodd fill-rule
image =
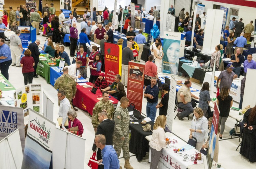
<path id="1" fill-rule="evenodd" d="M 86 139 L 56 128 L 54 135 L 53 168 L 65 167 L 65 151 L 67 142 L 66 168 L 85 168 L 85 141 Z M 93 152 L 91 152 L 93 153 Z M 89 159 L 86 159 L 89 160 Z M 87 162 L 87 161 L 86 161 Z"/>

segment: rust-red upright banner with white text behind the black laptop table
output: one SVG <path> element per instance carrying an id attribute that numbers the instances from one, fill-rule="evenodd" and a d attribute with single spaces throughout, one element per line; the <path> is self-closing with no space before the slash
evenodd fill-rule
<path id="1" fill-rule="evenodd" d="M 145 64 L 129 61 L 127 98 L 141 112 Z"/>

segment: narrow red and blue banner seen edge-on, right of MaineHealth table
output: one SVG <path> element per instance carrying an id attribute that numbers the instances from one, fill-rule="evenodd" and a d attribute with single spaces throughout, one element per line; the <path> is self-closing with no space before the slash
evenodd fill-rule
<path id="1" fill-rule="evenodd" d="M 214 110 L 213 110 L 212 128 L 211 128 L 211 134 L 210 134 L 210 140 L 209 140 L 209 150 L 207 154 L 208 164 L 210 168 L 212 166 L 216 140 L 218 139 L 217 138 L 218 125 L 219 125 L 219 108 L 217 106 L 217 102 L 215 101 Z"/>

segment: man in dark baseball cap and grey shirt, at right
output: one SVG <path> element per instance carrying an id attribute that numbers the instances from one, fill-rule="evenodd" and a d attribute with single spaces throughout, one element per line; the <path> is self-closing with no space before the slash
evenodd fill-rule
<path id="1" fill-rule="evenodd" d="M 221 72 L 221 74 L 219 74 L 219 77 L 217 79 L 217 85 L 216 88 L 219 88 L 219 91 L 221 91 L 221 89 L 224 86 L 228 86 L 228 88 L 230 89 L 231 84 L 233 82 L 233 79 L 237 78 L 238 76 L 232 71 L 234 69 L 232 64 L 228 64 L 227 65 L 227 70 L 224 70 Z M 219 79 L 221 79 L 221 83 L 219 84 Z M 219 84 L 219 85 L 218 85 Z"/>

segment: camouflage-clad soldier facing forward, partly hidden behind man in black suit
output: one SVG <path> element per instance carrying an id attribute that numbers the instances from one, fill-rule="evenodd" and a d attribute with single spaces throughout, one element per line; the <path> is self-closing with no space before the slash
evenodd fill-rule
<path id="1" fill-rule="evenodd" d="M 97 127 L 100 124 L 98 114 L 105 110 L 107 112 L 108 119 L 113 119 L 114 106 L 109 100 L 109 92 L 102 92 L 102 100 L 98 101 L 93 108 L 93 116 L 91 117 L 91 124 L 93 124 L 94 131 L 97 131 Z"/>

